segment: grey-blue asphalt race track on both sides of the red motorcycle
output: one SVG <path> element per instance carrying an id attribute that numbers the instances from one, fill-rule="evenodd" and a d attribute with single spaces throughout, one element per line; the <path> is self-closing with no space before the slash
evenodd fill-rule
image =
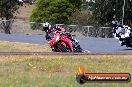
<path id="1" fill-rule="evenodd" d="M 91 53 L 121 53 L 131 54 L 132 48 L 120 46 L 118 40 L 114 38 L 94 38 L 94 37 L 77 37 L 81 47 Z M 18 35 L 0 33 L 0 41 L 24 42 L 33 44 L 45 44 L 45 36 L 43 35 Z"/>

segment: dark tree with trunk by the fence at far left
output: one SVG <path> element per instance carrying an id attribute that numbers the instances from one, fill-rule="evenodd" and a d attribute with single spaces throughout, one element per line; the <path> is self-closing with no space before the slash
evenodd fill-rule
<path id="1" fill-rule="evenodd" d="M 0 17 L 2 17 L 3 29 L 6 34 L 10 34 L 11 19 L 13 14 L 19 8 L 20 2 L 18 0 L 0 0 Z"/>

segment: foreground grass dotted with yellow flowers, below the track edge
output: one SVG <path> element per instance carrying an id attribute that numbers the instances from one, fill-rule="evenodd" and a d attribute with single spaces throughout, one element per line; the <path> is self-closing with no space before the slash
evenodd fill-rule
<path id="1" fill-rule="evenodd" d="M 132 56 L 0 56 L 0 87 L 131 87 L 129 83 L 76 82 L 82 66 L 87 73 L 131 73 Z"/>

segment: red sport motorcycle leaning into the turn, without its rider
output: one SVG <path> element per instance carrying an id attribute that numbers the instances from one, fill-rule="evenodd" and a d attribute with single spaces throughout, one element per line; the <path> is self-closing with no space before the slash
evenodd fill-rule
<path id="1" fill-rule="evenodd" d="M 54 52 L 74 52 L 72 42 L 67 34 L 64 34 L 59 31 L 50 32 L 49 36 L 51 37 L 48 40 L 48 45 L 52 48 Z"/>

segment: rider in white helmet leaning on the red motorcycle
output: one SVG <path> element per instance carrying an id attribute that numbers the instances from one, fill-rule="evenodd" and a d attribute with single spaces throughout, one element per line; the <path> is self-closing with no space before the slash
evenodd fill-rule
<path id="1" fill-rule="evenodd" d="M 74 52 L 83 52 L 84 50 L 80 47 L 78 44 L 79 41 L 74 38 L 69 32 L 65 31 L 65 28 L 60 25 L 51 25 L 50 23 L 46 22 L 43 23 L 43 31 L 46 32 L 46 40 L 50 41 L 52 38 L 54 38 L 54 34 L 56 32 L 59 32 L 62 36 L 68 36 L 68 38 L 71 40 Z"/>

